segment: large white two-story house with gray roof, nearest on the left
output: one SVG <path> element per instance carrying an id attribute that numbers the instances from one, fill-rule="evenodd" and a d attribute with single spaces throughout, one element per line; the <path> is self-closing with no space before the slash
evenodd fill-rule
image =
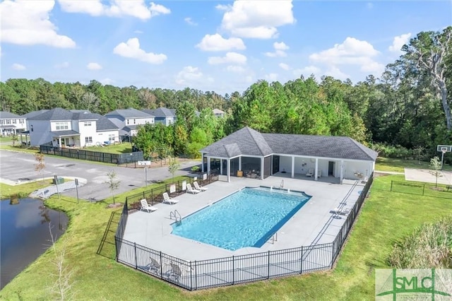
<path id="1" fill-rule="evenodd" d="M 31 146 L 96 146 L 119 141 L 119 128 L 100 114 L 59 107 L 28 118 Z"/>

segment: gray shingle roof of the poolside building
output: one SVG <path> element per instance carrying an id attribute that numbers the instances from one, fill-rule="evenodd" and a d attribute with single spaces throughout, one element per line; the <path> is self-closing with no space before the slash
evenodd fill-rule
<path id="1" fill-rule="evenodd" d="M 230 146 L 232 144 L 237 144 L 237 147 L 234 146 L 232 149 Z M 261 134 L 249 127 L 239 129 L 239 131 L 203 148 L 201 152 L 218 158 L 231 158 L 237 155 L 266 156 L 275 153 L 374 161 L 378 156 L 376 151 L 372 151 L 350 137 Z"/>

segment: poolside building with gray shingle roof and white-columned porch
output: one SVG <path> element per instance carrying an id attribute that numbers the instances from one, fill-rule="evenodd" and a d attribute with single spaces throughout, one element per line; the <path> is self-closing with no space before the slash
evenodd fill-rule
<path id="1" fill-rule="evenodd" d="M 338 179 L 369 177 L 376 151 L 345 136 L 262 134 L 244 127 L 201 149 L 203 172 L 264 179 L 278 172 Z"/>

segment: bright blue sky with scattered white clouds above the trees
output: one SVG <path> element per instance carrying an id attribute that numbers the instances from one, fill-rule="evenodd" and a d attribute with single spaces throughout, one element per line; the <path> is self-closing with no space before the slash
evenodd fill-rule
<path id="1" fill-rule="evenodd" d="M 259 79 L 381 75 L 410 37 L 452 24 L 452 1 L 4 0 L 1 81 L 225 94 Z"/>

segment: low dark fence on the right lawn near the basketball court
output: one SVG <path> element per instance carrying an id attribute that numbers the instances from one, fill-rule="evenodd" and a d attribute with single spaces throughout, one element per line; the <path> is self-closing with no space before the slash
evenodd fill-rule
<path id="1" fill-rule="evenodd" d="M 403 194 L 415 194 L 418 196 L 452 199 L 452 185 L 391 181 L 390 191 Z"/>

